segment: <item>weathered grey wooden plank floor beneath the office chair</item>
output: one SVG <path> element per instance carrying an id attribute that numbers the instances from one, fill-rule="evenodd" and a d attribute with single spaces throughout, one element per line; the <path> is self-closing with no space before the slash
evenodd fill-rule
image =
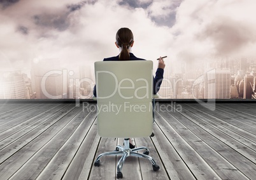
<path id="1" fill-rule="evenodd" d="M 96 104 L 0 103 L 0 179 L 116 179 L 120 156 L 94 160 L 123 139 L 97 135 Z M 156 106 L 148 146 L 160 166 L 128 157 L 123 179 L 255 179 L 256 103 Z"/>

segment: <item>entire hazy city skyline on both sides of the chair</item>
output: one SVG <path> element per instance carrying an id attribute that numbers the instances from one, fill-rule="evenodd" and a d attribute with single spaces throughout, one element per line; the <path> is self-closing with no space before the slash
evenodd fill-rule
<path id="1" fill-rule="evenodd" d="M 180 72 L 166 66 L 159 91 L 163 99 L 255 99 L 256 58 L 183 61 Z M 173 73 L 174 72 L 174 73 Z M 78 70 L 32 63 L 31 73 L 0 72 L 0 99 L 90 99 L 94 88 L 90 65 Z"/>

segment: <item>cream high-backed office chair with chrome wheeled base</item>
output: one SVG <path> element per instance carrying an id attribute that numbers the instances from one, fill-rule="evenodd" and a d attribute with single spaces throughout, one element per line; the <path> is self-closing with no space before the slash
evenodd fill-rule
<path id="1" fill-rule="evenodd" d="M 129 138 L 148 137 L 153 129 L 152 61 L 97 61 L 94 63 L 97 93 L 97 128 L 104 138 L 124 138 L 124 146 L 116 146 L 106 155 L 122 155 L 117 165 L 117 179 L 122 178 L 122 166 L 129 156 L 147 158 L 154 171 L 159 165 L 145 146 L 129 148 Z M 109 108 L 109 109 L 108 109 Z M 145 150 L 138 153 L 138 150 Z"/>

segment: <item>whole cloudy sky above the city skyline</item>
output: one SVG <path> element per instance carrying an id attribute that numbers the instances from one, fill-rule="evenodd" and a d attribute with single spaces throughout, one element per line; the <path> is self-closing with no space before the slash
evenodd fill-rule
<path id="1" fill-rule="evenodd" d="M 0 0 L 0 72 L 31 62 L 93 65 L 117 56 L 115 34 L 129 27 L 132 53 L 168 66 L 255 56 L 255 0 Z M 175 69 L 175 68 L 174 68 Z"/>

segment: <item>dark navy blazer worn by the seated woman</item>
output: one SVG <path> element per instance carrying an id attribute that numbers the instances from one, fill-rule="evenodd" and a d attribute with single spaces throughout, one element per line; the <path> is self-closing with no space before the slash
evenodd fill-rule
<path id="1" fill-rule="evenodd" d="M 134 60 L 144 60 L 144 59 L 137 58 L 132 53 L 130 53 L 130 60 L 134 61 Z M 118 56 L 113 56 L 113 57 L 110 57 L 110 58 L 104 58 L 103 61 L 119 61 L 119 55 Z M 153 77 L 153 94 L 157 94 L 157 92 L 159 91 L 163 78 L 164 78 L 164 69 L 157 68 L 157 72 L 155 72 L 155 77 Z M 94 96 L 97 97 L 96 86 L 94 86 L 94 92 L 93 93 L 94 93 Z"/>

